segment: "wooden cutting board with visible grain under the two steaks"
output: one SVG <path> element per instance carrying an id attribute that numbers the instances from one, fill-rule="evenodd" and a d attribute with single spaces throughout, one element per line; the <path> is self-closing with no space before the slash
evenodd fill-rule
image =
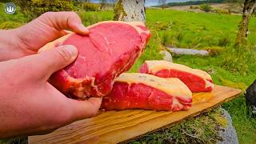
<path id="1" fill-rule="evenodd" d="M 73 122 L 46 135 L 29 137 L 30 143 L 117 143 L 138 137 L 163 126 L 174 125 L 186 118 L 218 106 L 238 95 L 241 90 L 215 86 L 209 93 L 193 94 L 190 110 L 178 112 L 122 110 L 100 112 L 94 118 Z"/>

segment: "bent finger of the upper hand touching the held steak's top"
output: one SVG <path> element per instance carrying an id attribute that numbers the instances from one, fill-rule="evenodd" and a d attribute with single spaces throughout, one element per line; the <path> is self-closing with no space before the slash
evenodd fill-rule
<path id="1" fill-rule="evenodd" d="M 46 25 L 54 26 L 57 30 L 72 30 L 75 33 L 86 35 L 89 30 L 82 25 L 81 18 L 75 12 L 47 12 L 38 18 L 39 21 Z"/>

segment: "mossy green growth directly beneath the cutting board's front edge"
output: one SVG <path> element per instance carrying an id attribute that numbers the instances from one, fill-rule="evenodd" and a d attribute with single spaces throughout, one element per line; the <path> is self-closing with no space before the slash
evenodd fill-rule
<path id="1" fill-rule="evenodd" d="M 226 124 L 226 118 L 223 118 L 221 110 L 217 109 L 128 143 L 216 143 L 221 140 L 219 127 L 225 127 Z"/>

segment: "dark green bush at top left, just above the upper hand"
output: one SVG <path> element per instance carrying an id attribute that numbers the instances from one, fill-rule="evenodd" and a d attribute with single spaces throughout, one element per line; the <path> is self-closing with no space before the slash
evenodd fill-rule
<path id="1" fill-rule="evenodd" d="M 16 0 L 21 7 L 21 12 L 30 19 L 37 18 L 47 11 L 72 11 L 75 10 L 71 0 Z"/>

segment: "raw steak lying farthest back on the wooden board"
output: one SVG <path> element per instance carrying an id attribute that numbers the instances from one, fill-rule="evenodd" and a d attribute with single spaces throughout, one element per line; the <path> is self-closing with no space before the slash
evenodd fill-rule
<path id="1" fill-rule="evenodd" d="M 179 78 L 192 92 L 206 92 L 214 88 L 210 74 L 172 62 L 146 61 L 140 67 L 139 72 L 154 74 L 162 78 Z"/>

